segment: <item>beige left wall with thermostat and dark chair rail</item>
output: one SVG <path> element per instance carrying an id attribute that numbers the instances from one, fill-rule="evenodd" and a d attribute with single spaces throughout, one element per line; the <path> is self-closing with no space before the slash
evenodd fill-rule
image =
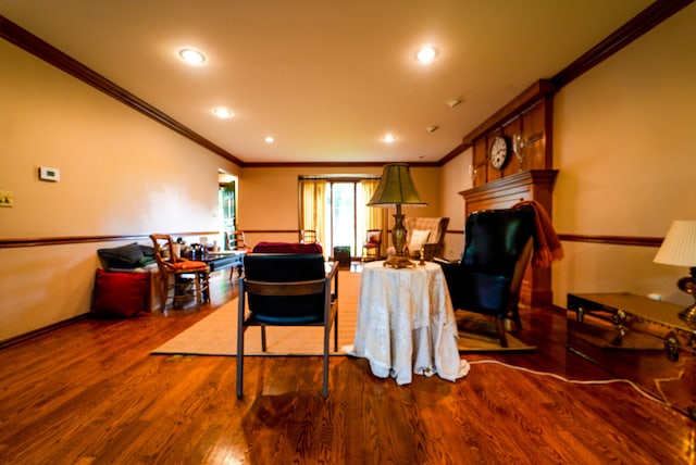
<path id="1" fill-rule="evenodd" d="M 0 238 L 219 229 L 217 168 L 238 167 L 7 41 L 0 61 Z M 96 250 L 121 243 L 0 249 L 0 340 L 87 312 Z"/>

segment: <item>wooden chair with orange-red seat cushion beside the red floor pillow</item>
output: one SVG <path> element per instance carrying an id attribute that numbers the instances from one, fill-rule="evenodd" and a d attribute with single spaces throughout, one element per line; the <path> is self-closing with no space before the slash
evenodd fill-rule
<path id="1" fill-rule="evenodd" d="M 154 259 L 160 268 L 160 310 L 166 310 L 166 301 L 170 291 L 173 291 L 172 306 L 176 306 L 177 299 L 190 297 L 189 275 L 194 279 L 194 294 L 196 305 L 209 300 L 209 274 L 210 268 L 204 262 L 198 262 L 178 256 L 174 249 L 172 237 L 163 234 L 150 235 L 154 247 Z"/>

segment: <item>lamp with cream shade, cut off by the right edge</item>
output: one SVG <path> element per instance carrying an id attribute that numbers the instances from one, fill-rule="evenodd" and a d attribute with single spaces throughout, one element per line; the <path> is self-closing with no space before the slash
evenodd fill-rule
<path id="1" fill-rule="evenodd" d="M 654 262 L 689 267 L 692 275 L 676 281 L 676 286 L 696 299 L 696 219 L 673 222 Z M 696 302 L 680 312 L 679 316 L 688 323 L 696 323 Z"/>

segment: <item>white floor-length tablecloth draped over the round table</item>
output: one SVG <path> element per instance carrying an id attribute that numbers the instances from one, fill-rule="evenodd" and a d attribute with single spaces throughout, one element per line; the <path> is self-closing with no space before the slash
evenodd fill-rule
<path id="1" fill-rule="evenodd" d="M 394 269 L 364 265 L 351 353 L 375 376 L 411 382 L 412 373 L 455 381 L 469 364 L 457 349 L 457 322 L 439 265 Z"/>

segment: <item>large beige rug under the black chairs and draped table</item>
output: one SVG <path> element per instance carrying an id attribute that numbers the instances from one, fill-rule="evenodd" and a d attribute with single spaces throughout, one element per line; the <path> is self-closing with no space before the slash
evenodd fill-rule
<path id="1" fill-rule="evenodd" d="M 332 355 L 346 355 L 341 349 L 353 343 L 360 274 L 339 272 L 338 277 L 338 352 Z M 501 350 L 534 350 L 511 335 L 508 335 L 510 348 L 502 349 L 498 343 L 493 322 L 480 315 L 457 312 L 460 352 L 482 352 Z M 463 331 L 462 331 L 463 329 Z M 321 327 L 268 327 L 268 351 L 261 351 L 261 330 L 250 327 L 245 334 L 245 353 L 248 355 L 321 355 L 323 353 L 323 328 Z M 209 316 L 196 323 L 184 332 L 157 348 L 153 354 L 185 355 L 236 355 L 237 353 L 237 299 L 213 311 Z"/>

